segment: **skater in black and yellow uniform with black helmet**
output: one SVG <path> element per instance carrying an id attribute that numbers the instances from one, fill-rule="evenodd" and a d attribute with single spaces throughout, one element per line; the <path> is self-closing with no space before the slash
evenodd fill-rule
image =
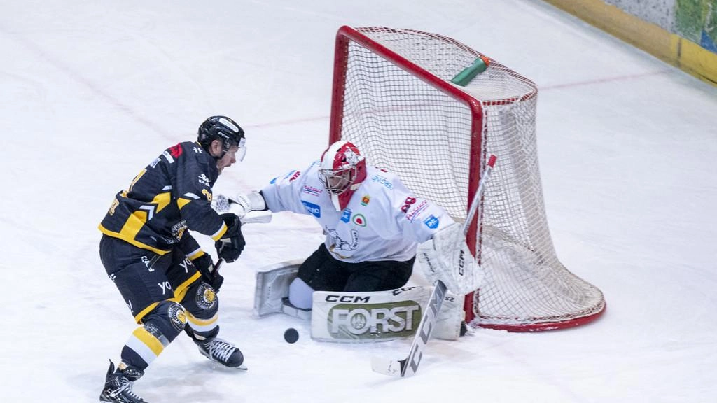
<path id="1" fill-rule="evenodd" d="M 181 331 L 201 354 L 246 369 L 234 344 L 217 337 L 217 291 L 223 278 L 187 229 L 212 237 L 219 258 L 244 249 L 241 222 L 217 214 L 212 186 L 246 152 L 244 131 L 224 116 L 201 123 L 196 142 L 167 148 L 120 191 L 100 224 L 100 258 L 140 325 L 110 361 L 100 402 L 137 403 L 133 382 Z"/>

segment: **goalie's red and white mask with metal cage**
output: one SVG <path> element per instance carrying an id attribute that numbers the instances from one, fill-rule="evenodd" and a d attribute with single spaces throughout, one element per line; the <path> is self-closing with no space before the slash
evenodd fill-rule
<path id="1" fill-rule="evenodd" d="M 318 177 L 331 195 L 333 207 L 341 211 L 366 179 L 366 158 L 352 143 L 337 141 L 323 152 Z"/>

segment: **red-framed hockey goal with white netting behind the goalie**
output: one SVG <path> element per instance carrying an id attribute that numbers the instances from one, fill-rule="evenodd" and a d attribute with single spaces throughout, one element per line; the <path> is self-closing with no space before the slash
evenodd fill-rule
<path id="1" fill-rule="evenodd" d="M 466 296 L 474 326 L 536 331 L 578 326 L 604 311 L 602 292 L 567 270 L 551 240 L 536 150 L 537 88 L 495 60 L 465 87 L 450 80 L 478 52 L 437 34 L 341 27 L 330 141 L 465 221 L 489 153 L 498 163 L 467 235 L 485 270 Z M 367 180 L 371 180 L 368 178 Z"/>

